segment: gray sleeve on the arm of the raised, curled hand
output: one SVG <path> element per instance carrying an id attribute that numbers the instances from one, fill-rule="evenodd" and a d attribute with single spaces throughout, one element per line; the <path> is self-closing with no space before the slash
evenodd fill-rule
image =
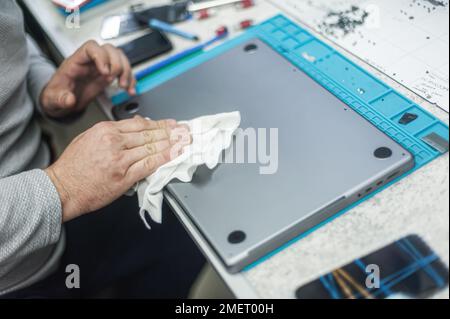
<path id="1" fill-rule="evenodd" d="M 29 69 L 27 74 L 28 91 L 33 99 L 34 105 L 44 115 L 41 110 L 39 98 L 51 77 L 55 73 L 52 62 L 42 53 L 34 40 L 27 35 L 27 47 L 29 58 Z"/>

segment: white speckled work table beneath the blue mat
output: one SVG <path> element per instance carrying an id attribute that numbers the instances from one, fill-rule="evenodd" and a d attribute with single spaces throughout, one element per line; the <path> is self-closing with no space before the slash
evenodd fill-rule
<path id="1" fill-rule="evenodd" d="M 100 28 L 105 16 L 124 13 L 132 3 L 155 5 L 167 3 L 167 1 L 159 0 L 111 1 L 110 4 L 82 14 L 79 29 L 69 29 L 65 25 L 65 18 L 55 10 L 50 0 L 23 0 L 22 2 L 63 57 L 71 55 L 89 39 L 103 42 L 100 39 Z M 239 12 L 224 9 L 211 19 L 192 20 L 181 26 L 185 30 L 199 34 L 202 39 L 208 39 L 221 25 L 233 29 L 233 26 L 244 19 L 252 18 L 255 22 L 260 22 L 278 13 L 280 11 L 277 8 L 265 0 L 259 0 L 257 6 L 251 9 Z M 299 23 L 301 24 L 301 22 Z M 235 32 L 233 31 L 231 36 L 233 33 Z M 138 34 L 133 35 L 133 37 L 136 36 Z M 111 41 L 111 43 L 118 45 L 128 40 L 130 37 Z M 193 45 L 192 42 L 178 37 L 171 37 L 171 40 L 175 50 L 170 54 Z M 348 53 L 343 53 L 349 56 Z M 164 56 L 159 59 L 162 58 Z M 349 58 L 375 73 L 383 81 L 448 124 L 448 113 L 422 100 L 359 59 L 353 56 L 349 56 Z M 156 61 L 158 59 L 150 63 Z M 145 67 L 145 65 L 141 67 Z M 109 100 L 102 97 L 99 98 L 99 103 L 106 115 L 111 118 L 112 105 Z M 176 114 L 174 117 L 176 118 Z M 227 272 L 212 248 L 168 194 L 166 194 L 166 199 L 173 206 L 175 214 L 199 245 L 206 258 L 239 298 L 294 298 L 295 290 L 300 286 L 410 234 L 420 235 L 443 259 L 444 263 L 447 266 L 449 264 L 448 154 L 378 193 L 307 237 L 293 243 L 256 267 L 236 275 Z M 448 288 L 435 297 L 449 298 Z"/>

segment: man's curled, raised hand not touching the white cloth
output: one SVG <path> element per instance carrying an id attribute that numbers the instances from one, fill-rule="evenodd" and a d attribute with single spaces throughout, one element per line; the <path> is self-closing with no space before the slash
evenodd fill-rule
<path id="1" fill-rule="evenodd" d="M 115 79 L 130 95 L 136 94 L 125 54 L 110 44 L 89 41 L 61 64 L 42 91 L 43 111 L 55 118 L 81 112 Z"/>

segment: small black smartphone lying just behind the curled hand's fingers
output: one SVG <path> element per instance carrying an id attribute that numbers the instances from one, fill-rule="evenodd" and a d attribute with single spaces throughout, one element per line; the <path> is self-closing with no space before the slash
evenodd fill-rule
<path id="1" fill-rule="evenodd" d="M 156 30 L 128 42 L 119 48 L 123 50 L 132 66 L 167 53 L 173 49 L 170 40 L 164 34 Z"/>

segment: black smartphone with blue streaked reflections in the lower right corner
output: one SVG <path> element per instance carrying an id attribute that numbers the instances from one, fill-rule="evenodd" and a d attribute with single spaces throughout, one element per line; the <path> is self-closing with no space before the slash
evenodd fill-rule
<path id="1" fill-rule="evenodd" d="M 374 271 L 377 269 L 377 271 Z M 372 285 L 378 276 L 378 285 Z M 426 298 L 448 286 L 449 270 L 417 235 L 404 237 L 296 291 L 298 299 Z"/>

